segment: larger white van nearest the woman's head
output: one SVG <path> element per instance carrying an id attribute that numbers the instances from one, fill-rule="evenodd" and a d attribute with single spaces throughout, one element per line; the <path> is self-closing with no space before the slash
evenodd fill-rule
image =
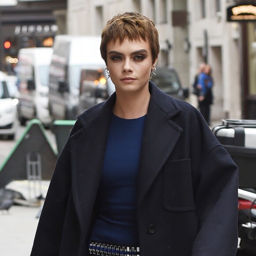
<path id="1" fill-rule="evenodd" d="M 57 35 L 49 75 L 49 112 L 53 120 L 75 120 L 79 114 L 82 68 L 105 69 L 100 36 Z"/>

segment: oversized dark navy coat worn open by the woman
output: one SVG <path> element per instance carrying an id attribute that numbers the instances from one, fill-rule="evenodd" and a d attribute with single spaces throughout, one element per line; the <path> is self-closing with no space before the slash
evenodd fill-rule
<path id="1" fill-rule="evenodd" d="M 201 114 L 153 83 L 138 176 L 142 256 L 235 256 L 238 170 Z M 61 152 L 31 256 L 87 256 L 113 94 L 78 117 Z"/>

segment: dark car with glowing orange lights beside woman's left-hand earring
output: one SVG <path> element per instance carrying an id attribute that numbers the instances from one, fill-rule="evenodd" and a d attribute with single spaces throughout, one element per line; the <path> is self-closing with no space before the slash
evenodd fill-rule
<path id="1" fill-rule="evenodd" d="M 82 68 L 79 86 L 79 113 L 105 101 L 116 90 L 103 68 Z"/>

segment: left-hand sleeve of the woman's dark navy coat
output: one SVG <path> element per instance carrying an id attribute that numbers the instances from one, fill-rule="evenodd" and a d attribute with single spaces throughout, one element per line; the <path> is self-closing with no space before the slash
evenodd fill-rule
<path id="1" fill-rule="evenodd" d="M 70 136 L 78 129 L 74 125 Z M 53 172 L 30 256 L 59 255 L 61 234 L 71 191 L 70 136 Z"/>

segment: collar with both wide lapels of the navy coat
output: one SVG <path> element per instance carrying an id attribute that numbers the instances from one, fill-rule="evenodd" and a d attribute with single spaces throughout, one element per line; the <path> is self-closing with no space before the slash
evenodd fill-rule
<path id="1" fill-rule="evenodd" d="M 177 102 L 150 82 L 151 99 L 145 120 L 138 177 L 138 205 L 173 151 L 182 128 L 171 118 L 181 112 Z M 72 192 L 82 229 L 90 216 L 101 178 L 115 93 L 78 117 L 83 128 L 71 137 Z M 87 226 L 88 228 L 88 226 Z"/>

